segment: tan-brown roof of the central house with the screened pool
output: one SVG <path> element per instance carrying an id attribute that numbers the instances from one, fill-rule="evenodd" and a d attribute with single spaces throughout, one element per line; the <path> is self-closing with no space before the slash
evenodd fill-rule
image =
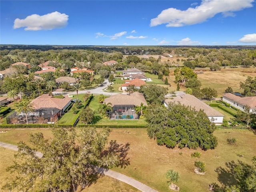
<path id="1" fill-rule="evenodd" d="M 135 105 L 135 106 L 140 106 L 141 103 L 144 104 L 144 106 L 148 106 L 143 94 L 139 92 L 134 92 L 131 93 L 130 95 L 128 94 L 116 94 L 112 95 L 109 98 L 106 98 L 104 100 L 106 103 L 111 103 L 112 106 L 114 105 Z"/>

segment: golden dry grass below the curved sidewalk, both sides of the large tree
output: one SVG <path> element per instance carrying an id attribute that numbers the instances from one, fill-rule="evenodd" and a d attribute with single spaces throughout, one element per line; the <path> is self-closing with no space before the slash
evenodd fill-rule
<path id="1" fill-rule="evenodd" d="M 12 164 L 14 161 L 14 154 L 16 151 L 10 150 L 7 148 L 0 147 L 0 187 L 2 187 L 6 182 L 6 178 L 14 178 L 14 174 L 10 174 L 10 172 L 6 172 L 6 168 Z M 9 190 L 1 190 L 2 192 L 8 192 Z M 16 191 L 16 190 L 12 190 Z M 80 191 L 80 188 L 78 188 Z M 109 176 L 100 175 L 100 178 L 94 180 L 92 184 L 87 186 L 84 190 L 80 192 L 139 192 L 136 188 L 111 178 Z"/>

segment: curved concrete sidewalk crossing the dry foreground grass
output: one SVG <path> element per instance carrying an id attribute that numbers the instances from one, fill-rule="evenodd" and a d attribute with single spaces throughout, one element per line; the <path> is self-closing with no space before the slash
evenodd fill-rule
<path id="1" fill-rule="evenodd" d="M 11 150 L 15 150 L 15 151 L 18 151 L 18 147 L 16 145 L 12 145 L 12 144 L 8 144 L 8 143 L 4 143 L 4 142 L 0 142 L 0 147 L 4 147 L 4 148 L 8 148 L 8 149 L 11 149 Z M 40 153 L 40 152 L 36 152 L 36 155 L 38 157 L 42 157 L 43 154 Z M 142 192 L 158 192 L 157 190 L 154 190 L 152 189 L 151 187 L 131 178 L 131 177 L 128 177 L 124 174 L 121 174 L 121 173 L 118 173 L 118 172 L 115 172 L 115 171 L 112 171 L 112 170 L 109 170 L 109 169 L 106 169 L 106 168 L 98 168 L 97 170 L 98 173 L 100 174 L 104 174 L 104 175 L 107 175 L 107 176 L 110 176 L 112 178 L 115 178 L 117 180 L 120 180 L 122 182 L 125 182 L 135 188 L 137 188 L 138 190 L 142 191 Z"/>

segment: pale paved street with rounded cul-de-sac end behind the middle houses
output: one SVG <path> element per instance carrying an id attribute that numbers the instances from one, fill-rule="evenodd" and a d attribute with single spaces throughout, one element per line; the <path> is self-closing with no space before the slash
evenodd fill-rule
<path id="1" fill-rule="evenodd" d="M 92 88 L 92 89 L 87 89 L 87 90 L 82 90 L 82 91 L 78 91 L 78 94 L 84 94 L 84 93 L 87 93 L 87 92 L 90 92 L 92 94 L 104 94 L 104 95 L 114 95 L 114 94 L 118 94 L 118 93 L 115 93 L 115 92 L 105 92 L 103 91 L 104 89 L 106 89 L 110 83 L 108 82 L 108 79 L 105 79 L 105 81 L 103 82 L 102 84 L 103 86 L 100 87 L 96 87 L 96 88 Z M 68 95 L 68 94 L 74 94 L 76 95 L 76 91 L 74 92 L 52 92 L 52 94 L 54 95 L 58 95 L 58 94 L 62 94 L 62 95 Z"/>

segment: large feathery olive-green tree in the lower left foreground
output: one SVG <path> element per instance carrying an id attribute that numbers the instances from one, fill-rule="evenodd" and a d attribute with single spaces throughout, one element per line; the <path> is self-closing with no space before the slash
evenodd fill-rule
<path id="1" fill-rule="evenodd" d="M 95 128 L 52 129 L 53 137 L 44 138 L 42 133 L 30 134 L 31 148 L 24 142 L 18 146 L 16 158 L 23 161 L 7 168 L 18 175 L 2 188 L 18 191 L 68 192 L 84 189 L 92 178 L 95 166 L 112 167 L 120 162 L 119 153 L 107 150 L 109 129 L 96 132 Z M 42 158 L 36 156 L 42 152 Z"/>

